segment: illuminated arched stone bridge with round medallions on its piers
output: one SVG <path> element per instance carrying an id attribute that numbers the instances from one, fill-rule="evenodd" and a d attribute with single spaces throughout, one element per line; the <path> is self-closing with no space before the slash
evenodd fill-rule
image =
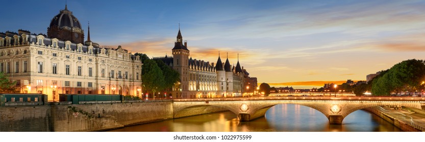
<path id="1" fill-rule="evenodd" d="M 263 117 L 266 111 L 277 104 L 299 104 L 321 112 L 330 124 L 342 124 L 342 120 L 357 110 L 381 106 L 400 105 L 422 109 L 425 98 L 415 97 L 256 97 L 215 99 L 174 99 L 173 117 L 199 109 L 220 108 L 235 113 L 239 121 L 251 121 Z"/>

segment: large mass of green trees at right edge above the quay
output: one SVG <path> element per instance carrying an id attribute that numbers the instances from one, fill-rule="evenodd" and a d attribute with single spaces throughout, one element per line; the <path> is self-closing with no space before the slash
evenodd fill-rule
<path id="1" fill-rule="evenodd" d="M 372 81 L 373 95 L 390 95 L 402 91 L 414 92 L 425 81 L 425 61 L 410 59 L 399 62 L 375 77 Z"/>

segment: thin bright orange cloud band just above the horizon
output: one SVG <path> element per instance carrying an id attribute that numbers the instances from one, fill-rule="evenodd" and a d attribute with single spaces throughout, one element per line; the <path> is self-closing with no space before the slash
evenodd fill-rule
<path id="1" fill-rule="evenodd" d="M 323 86 L 327 83 L 343 84 L 346 81 L 304 81 L 304 82 L 284 82 L 284 83 L 268 83 L 274 87 L 285 87 L 285 86 Z M 357 81 L 355 81 L 357 82 Z M 259 83 L 258 85 L 260 85 Z"/>

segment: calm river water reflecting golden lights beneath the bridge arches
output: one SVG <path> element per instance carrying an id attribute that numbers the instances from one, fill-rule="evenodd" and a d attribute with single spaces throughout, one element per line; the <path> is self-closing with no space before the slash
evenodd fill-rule
<path id="1" fill-rule="evenodd" d="M 297 104 L 279 104 L 265 117 L 239 122 L 232 112 L 198 115 L 128 126 L 109 131 L 133 132 L 397 132 L 402 131 L 370 112 L 359 110 L 344 118 L 342 125 L 329 125 L 319 111 Z"/>

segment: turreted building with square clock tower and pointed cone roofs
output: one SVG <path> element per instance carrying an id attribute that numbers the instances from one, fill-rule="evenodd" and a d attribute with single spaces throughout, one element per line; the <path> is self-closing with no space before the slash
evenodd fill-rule
<path id="1" fill-rule="evenodd" d="M 171 49 L 172 57 L 154 57 L 180 74 L 180 85 L 174 88 L 174 98 L 216 98 L 242 96 L 244 92 L 253 92 L 257 87 L 257 78 L 249 78 L 249 73 L 239 64 L 230 64 L 229 58 L 222 62 L 218 55 L 217 64 L 189 58 L 187 41 L 183 42 L 179 29 L 177 41 Z"/>

